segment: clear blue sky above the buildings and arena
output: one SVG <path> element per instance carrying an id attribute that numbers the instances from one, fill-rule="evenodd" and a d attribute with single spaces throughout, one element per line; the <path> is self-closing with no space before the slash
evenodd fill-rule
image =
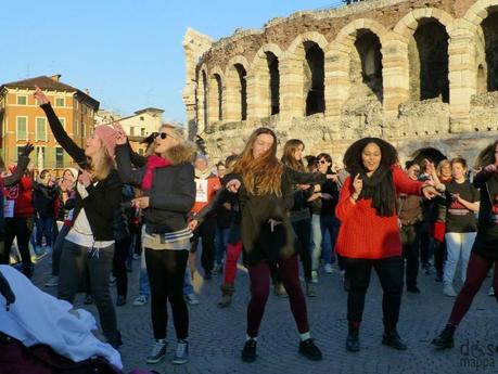
<path id="1" fill-rule="evenodd" d="M 101 107 L 129 115 L 154 106 L 183 121 L 188 27 L 214 39 L 277 16 L 341 0 L 46 0 L 2 5 L 0 82 L 61 74 Z"/>

